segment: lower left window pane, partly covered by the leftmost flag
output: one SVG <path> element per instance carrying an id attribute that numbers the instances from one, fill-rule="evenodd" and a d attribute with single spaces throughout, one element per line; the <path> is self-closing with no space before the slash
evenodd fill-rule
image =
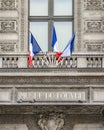
<path id="1" fill-rule="evenodd" d="M 48 22 L 30 22 L 30 31 L 42 51 L 48 51 Z"/>

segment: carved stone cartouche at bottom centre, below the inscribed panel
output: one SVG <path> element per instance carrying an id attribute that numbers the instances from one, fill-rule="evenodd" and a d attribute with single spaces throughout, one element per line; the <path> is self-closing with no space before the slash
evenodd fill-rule
<path id="1" fill-rule="evenodd" d="M 40 115 L 38 125 L 40 126 L 41 130 L 61 130 L 64 125 L 64 119 L 62 115 Z"/>

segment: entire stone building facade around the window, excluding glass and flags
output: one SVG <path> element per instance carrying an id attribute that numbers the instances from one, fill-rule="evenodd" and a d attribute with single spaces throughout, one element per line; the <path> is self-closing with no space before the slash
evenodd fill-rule
<path id="1" fill-rule="evenodd" d="M 0 0 L 0 130 L 104 129 L 104 0 L 74 0 L 75 49 L 28 67 L 28 0 Z"/>

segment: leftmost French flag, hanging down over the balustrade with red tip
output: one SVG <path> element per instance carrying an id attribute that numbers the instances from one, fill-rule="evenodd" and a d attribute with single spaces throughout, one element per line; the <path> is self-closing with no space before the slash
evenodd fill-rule
<path id="1" fill-rule="evenodd" d="M 40 48 L 39 44 L 37 43 L 35 37 L 30 32 L 30 43 L 29 43 L 29 66 L 33 66 L 33 56 L 37 53 L 42 52 L 42 49 Z"/>

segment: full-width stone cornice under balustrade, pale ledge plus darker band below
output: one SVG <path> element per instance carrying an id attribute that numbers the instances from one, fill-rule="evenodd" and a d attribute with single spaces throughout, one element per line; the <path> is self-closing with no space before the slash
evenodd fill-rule
<path id="1" fill-rule="evenodd" d="M 1 69 L 0 84 L 104 84 L 104 69 Z"/>

